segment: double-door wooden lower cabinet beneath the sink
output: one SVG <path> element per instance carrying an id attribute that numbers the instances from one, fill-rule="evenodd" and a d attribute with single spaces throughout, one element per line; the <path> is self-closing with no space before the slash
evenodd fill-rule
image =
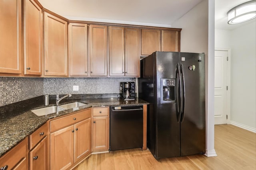
<path id="1" fill-rule="evenodd" d="M 58 131 L 50 134 L 51 170 L 66 170 L 91 153 L 91 109 L 82 112 L 86 114 L 86 119 L 62 129 L 58 128 Z M 70 115 L 67 119 L 69 117 Z M 62 121 L 59 122 L 59 126 L 65 124 L 63 118 L 65 119 L 60 118 Z M 53 121 L 56 120 L 58 119 Z"/>

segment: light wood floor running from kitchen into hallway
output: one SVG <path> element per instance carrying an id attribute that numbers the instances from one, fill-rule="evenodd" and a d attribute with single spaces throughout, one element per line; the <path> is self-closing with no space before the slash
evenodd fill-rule
<path id="1" fill-rule="evenodd" d="M 149 150 L 93 154 L 74 170 L 256 170 L 256 133 L 233 125 L 215 125 L 218 156 L 192 155 L 156 160 Z"/>

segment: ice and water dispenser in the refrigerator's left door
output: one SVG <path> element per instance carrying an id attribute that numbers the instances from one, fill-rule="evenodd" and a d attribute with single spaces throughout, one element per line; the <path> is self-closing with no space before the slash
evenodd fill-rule
<path id="1" fill-rule="evenodd" d="M 161 78 L 161 103 L 175 103 L 175 78 Z"/>

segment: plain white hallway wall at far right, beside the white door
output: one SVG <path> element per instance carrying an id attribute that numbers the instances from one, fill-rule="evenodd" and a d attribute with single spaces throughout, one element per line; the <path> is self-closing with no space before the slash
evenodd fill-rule
<path id="1" fill-rule="evenodd" d="M 256 129 L 256 22 L 231 31 L 231 123 Z"/>

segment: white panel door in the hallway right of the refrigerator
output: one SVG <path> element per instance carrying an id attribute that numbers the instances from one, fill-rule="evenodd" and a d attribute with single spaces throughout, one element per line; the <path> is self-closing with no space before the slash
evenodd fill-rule
<path id="1" fill-rule="evenodd" d="M 228 51 L 215 50 L 214 55 L 214 124 L 226 124 L 228 114 Z"/>

